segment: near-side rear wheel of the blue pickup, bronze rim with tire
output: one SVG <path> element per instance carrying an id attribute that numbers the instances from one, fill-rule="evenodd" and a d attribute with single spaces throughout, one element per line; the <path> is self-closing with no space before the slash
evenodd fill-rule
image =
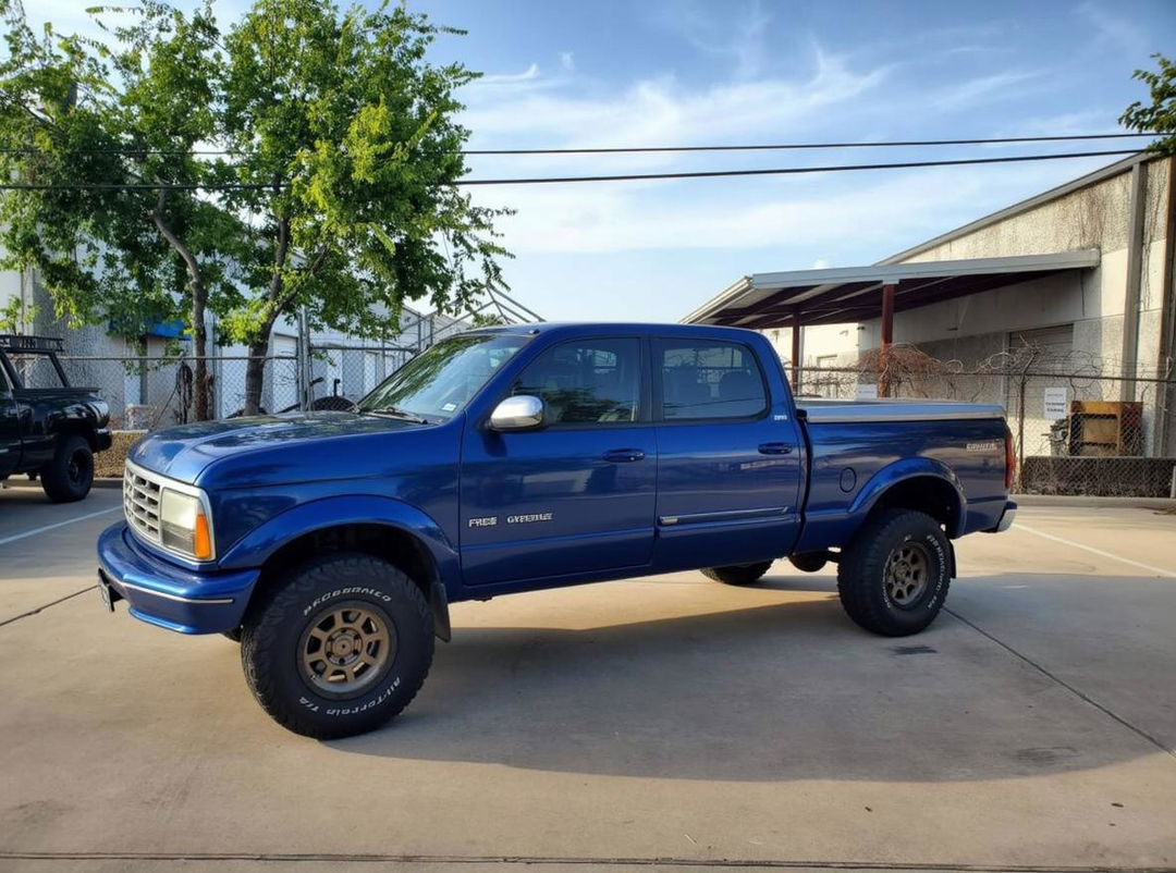
<path id="1" fill-rule="evenodd" d="M 951 582 L 948 540 L 926 512 L 890 509 L 869 519 L 837 565 L 837 595 L 874 633 L 918 633 L 940 613 Z"/>

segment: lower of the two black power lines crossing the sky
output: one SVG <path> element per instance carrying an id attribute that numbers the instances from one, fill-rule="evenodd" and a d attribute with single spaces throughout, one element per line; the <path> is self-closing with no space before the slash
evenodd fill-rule
<path id="1" fill-rule="evenodd" d="M 801 175 L 807 173 L 850 173 L 858 170 L 877 169 L 914 169 L 918 167 L 960 167 L 964 164 L 984 163 L 1023 163 L 1028 161 L 1058 161 L 1073 157 L 1108 157 L 1142 154 L 1138 149 L 1115 150 L 1115 152 L 1069 152 L 1050 155 L 1005 155 L 1002 157 L 958 157 L 947 161 L 901 161 L 897 163 L 850 163 L 831 164 L 821 167 L 776 167 L 770 169 L 723 169 L 723 170 L 693 170 L 686 173 L 633 173 L 600 176 L 535 176 L 535 177 L 505 177 L 505 179 L 459 179 L 455 186 L 487 186 L 487 184 L 553 184 L 564 182 L 630 182 L 640 180 L 656 179 L 716 179 L 720 176 L 773 176 L 773 175 Z M 279 183 L 287 187 L 288 182 Z M 11 182 L 0 184 L 0 190 L 259 190 L 273 189 L 273 183 L 252 182 L 214 182 L 209 184 L 196 183 L 169 183 L 169 182 L 133 182 L 120 184 L 115 182 L 78 182 L 71 184 L 36 184 Z"/>

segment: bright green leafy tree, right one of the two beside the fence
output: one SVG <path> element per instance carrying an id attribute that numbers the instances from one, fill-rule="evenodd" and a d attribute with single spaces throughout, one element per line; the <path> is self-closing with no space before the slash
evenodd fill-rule
<path id="1" fill-rule="evenodd" d="M 454 182 L 468 132 L 454 92 L 475 78 L 432 66 L 437 34 L 403 6 L 258 0 L 226 39 L 225 194 L 254 216 L 248 300 L 226 320 L 249 347 L 258 408 L 274 323 L 305 305 L 312 328 L 395 331 L 406 298 L 468 309 L 501 281 L 495 211 Z"/>

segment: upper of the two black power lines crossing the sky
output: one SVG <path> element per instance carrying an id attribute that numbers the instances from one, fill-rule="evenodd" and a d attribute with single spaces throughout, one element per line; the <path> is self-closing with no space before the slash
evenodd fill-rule
<path id="1" fill-rule="evenodd" d="M 1149 133 L 1071 134 L 1069 136 L 990 136 L 968 140 L 889 140 L 882 142 L 777 142 L 742 146 L 615 146 L 584 148 L 472 148 L 462 149 L 462 155 L 592 155 L 592 154 L 646 154 L 666 152 L 784 152 L 828 148 L 913 148 L 921 146 L 996 146 L 1018 142 L 1070 142 L 1075 140 L 1121 140 L 1140 136 L 1158 136 Z M 192 155 L 192 156 L 241 156 L 248 153 L 233 149 L 160 149 L 160 148 L 93 148 L 76 149 L 76 154 L 89 155 Z M 35 148 L 0 148 L 0 154 L 40 154 Z"/>

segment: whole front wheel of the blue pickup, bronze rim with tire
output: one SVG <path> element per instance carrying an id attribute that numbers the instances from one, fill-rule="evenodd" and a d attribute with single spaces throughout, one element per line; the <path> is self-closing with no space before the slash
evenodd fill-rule
<path id="1" fill-rule="evenodd" d="M 392 564 L 334 552 L 288 571 L 250 606 L 241 664 L 253 696 L 294 733 L 372 731 L 416 696 L 433 663 L 433 615 Z"/>

